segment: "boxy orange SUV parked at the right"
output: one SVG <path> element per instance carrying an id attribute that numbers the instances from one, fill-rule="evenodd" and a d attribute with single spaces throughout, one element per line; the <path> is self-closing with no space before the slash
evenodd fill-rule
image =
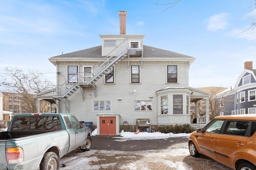
<path id="1" fill-rule="evenodd" d="M 256 114 L 217 116 L 191 133 L 191 156 L 201 154 L 234 170 L 256 170 Z"/>

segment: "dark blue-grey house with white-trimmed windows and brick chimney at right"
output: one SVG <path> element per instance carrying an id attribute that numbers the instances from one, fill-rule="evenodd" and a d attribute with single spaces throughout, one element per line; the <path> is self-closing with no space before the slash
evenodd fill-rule
<path id="1" fill-rule="evenodd" d="M 256 69 L 253 69 L 252 64 L 252 61 L 244 63 L 244 71 L 233 89 L 217 94 L 222 107 L 219 115 L 256 113 Z"/>

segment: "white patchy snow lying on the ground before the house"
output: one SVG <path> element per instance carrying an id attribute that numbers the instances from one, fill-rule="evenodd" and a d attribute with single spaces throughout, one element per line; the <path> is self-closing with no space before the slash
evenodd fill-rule
<path id="1" fill-rule="evenodd" d="M 97 129 L 92 132 L 92 136 L 97 135 Z M 124 132 L 120 133 L 120 137 L 113 137 L 116 141 L 123 142 L 126 140 L 150 140 L 150 139 L 168 139 L 172 137 L 189 137 L 190 133 L 180 133 L 180 134 L 173 134 L 173 133 L 160 133 L 160 132 L 140 132 L 135 134 L 134 132 Z M 172 142 L 172 139 L 168 139 Z M 90 170 L 98 170 L 99 168 L 103 168 L 104 165 L 90 165 L 90 161 L 99 161 L 95 154 L 104 154 L 107 156 L 111 155 L 119 155 L 119 154 L 129 154 L 127 151 L 120 151 L 120 150 L 90 150 L 88 152 L 78 152 L 71 157 L 64 157 L 60 159 L 60 170 L 80 170 L 82 169 L 90 169 Z M 145 151 L 138 151 L 133 152 L 136 155 L 146 156 L 146 159 L 142 160 L 135 160 L 133 163 L 124 164 L 121 169 L 128 169 L 128 170 L 146 170 L 145 164 L 148 161 L 151 162 L 162 162 L 163 164 L 168 165 L 169 167 L 173 167 L 177 170 L 191 170 L 191 168 L 186 165 L 182 161 L 171 161 L 171 160 L 162 160 L 162 158 L 166 158 L 168 156 L 175 157 L 175 156 L 188 156 L 189 150 L 187 143 L 179 143 L 173 145 L 169 149 L 165 150 L 145 150 Z M 87 158 L 85 158 L 87 157 Z M 89 157 L 89 158 L 88 158 Z M 164 161 L 164 162 L 163 162 Z M 62 164 L 65 164 L 66 167 L 61 167 Z M 143 165 L 144 164 L 144 165 Z M 110 164 L 105 164 L 105 166 L 109 166 Z"/>

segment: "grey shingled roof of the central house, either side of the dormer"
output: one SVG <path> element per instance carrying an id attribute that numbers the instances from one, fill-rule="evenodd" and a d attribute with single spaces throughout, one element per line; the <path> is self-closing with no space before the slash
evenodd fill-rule
<path id="1" fill-rule="evenodd" d="M 96 46 L 89 49 L 84 49 L 80 51 L 75 51 L 72 53 L 66 53 L 63 55 L 58 55 L 53 58 L 101 58 L 101 50 L 102 46 Z M 168 58 L 194 58 L 188 55 L 183 55 L 179 53 L 175 53 L 172 51 L 164 50 L 164 49 L 158 49 L 156 47 L 151 47 L 148 45 L 143 45 L 143 58 L 162 58 L 162 57 L 168 57 Z"/>

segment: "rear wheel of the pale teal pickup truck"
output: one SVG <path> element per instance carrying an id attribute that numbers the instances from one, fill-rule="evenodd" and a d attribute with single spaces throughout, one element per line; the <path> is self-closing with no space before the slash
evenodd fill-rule
<path id="1" fill-rule="evenodd" d="M 58 170 L 60 166 L 59 158 L 54 152 L 47 152 L 40 164 L 40 170 Z"/>

